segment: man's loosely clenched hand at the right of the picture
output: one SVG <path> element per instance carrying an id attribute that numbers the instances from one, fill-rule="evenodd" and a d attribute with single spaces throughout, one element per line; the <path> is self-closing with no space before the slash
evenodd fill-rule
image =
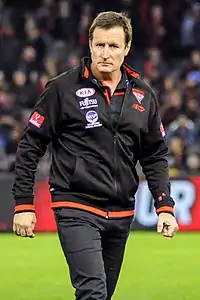
<path id="1" fill-rule="evenodd" d="M 160 213 L 158 216 L 157 232 L 165 237 L 172 238 L 179 227 L 174 216 L 168 213 Z"/>

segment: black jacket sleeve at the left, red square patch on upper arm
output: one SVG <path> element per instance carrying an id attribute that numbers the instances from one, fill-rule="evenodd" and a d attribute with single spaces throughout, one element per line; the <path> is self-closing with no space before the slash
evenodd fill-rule
<path id="1" fill-rule="evenodd" d="M 39 159 L 56 135 L 59 94 L 55 80 L 49 81 L 31 114 L 18 145 L 12 193 L 15 213 L 34 211 L 33 186 Z"/>

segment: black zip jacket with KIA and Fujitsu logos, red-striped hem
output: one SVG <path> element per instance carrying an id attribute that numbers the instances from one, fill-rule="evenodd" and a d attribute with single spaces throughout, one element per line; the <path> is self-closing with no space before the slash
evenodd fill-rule
<path id="1" fill-rule="evenodd" d="M 18 146 L 13 194 L 16 212 L 33 211 L 34 176 L 52 142 L 52 208 L 76 207 L 116 217 L 134 213 L 140 161 L 157 213 L 173 213 L 167 146 L 152 89 L 124 64 L 127 87 L 119 120 L 112 123 L 107 92 L 89 61 L 48 82 Z M 116 91 L 120 93 L 120 91 Z M 123 94 L 123 91 L 121 91 Z"/>

